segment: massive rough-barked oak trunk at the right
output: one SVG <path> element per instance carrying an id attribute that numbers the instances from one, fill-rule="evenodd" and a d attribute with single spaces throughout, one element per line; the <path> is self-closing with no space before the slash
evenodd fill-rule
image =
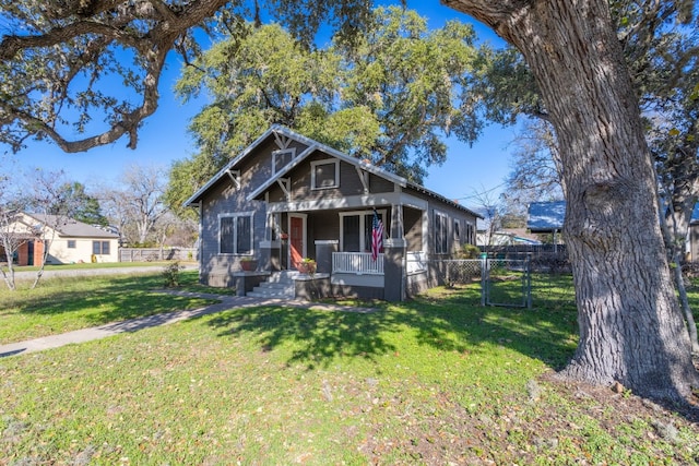
<path id="1" fill-rule="evenodd" d="M 699 385 L 659 224 L 656 184 L 604 0 L 452 0 L 524 55 L 564 165 L 580 343 L 565 377 L 654 398 Z"/>

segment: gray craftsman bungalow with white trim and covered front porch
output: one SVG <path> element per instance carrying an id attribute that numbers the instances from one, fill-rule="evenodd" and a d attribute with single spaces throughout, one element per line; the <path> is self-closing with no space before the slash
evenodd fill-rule
<path id="1" fill-rule="evenodd" d="M 200 214 L 201 282 L 252 296 L 402 300 L 436 285 L 430 260 L 475 243 L 479 217 L 279 126 L 186 205 Z M 383 235 L 372 253 L 375 216 Z M 254 270 L 242 271 L 250 259 Z M 315 274 L 296 273 L 305 259 L 316 261 Z"/>

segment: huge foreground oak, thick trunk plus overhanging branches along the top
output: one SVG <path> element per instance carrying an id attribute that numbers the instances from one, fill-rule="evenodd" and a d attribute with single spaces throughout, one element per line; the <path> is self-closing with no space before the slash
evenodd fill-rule
<path id="1" fill-rule="evenodd" d="M 638 94 L 609 3 L 443 3 L 485 23 L 522 53 L 555 129 L 580 325 L 578 349 L 561 377 L 594 384 L 618 381 L 637 394 L 654 398 L 689 396 L 691 386 L 699 386 L 699 375 L 670 278 L 657 223 L 657 183 Z M 66 151 L 107 144 L 123 134 L 130 136 L 133 146 L 140 122 L 156 108 L 157 82 L 167 51 L 178 44 L 185 52 L 194 47 L 185 41 L 190 28 L 220 10 L 222 24 L 234 29 L 236 19 L 256 16 L 242 12 L 240 3 L 223 0 L 94 0 L 70 5 L 3 0 L 1 4 L 5 17 L 12 17 L 10 23 L 26 23 L 27 28 L 20 36 L 12 35 L 19 28 L 9 27 L 10 36 L 0 43 L 0 136 L 15 147 L 21 147 L 27 136 L 49 136 Z M 331 17 L 333 27 L 351 31 L 366 23 L 372 2 L 277 0 L 261 4 L 273 4 L 283 24 L 312 29 Z M 633 4 L 655 20 L 649 24 L 662 24 L 672 16 L 654 9 L 661 4 L 670 13 L 679 12 L 675 17 L 696 27 L 694 1 Z M 99 77 L 102 72 L 126 69 L 114 64 L 118 62 L 115 44 L 134 50 L 137 63 L 143 64 L 142 75 L 123 73 L 127 84 L 144 97 L 142 103 L 109 101 L 90 87 L 92 81 L 74 87 L 83 100 L 61 100 L 61 95 L 73 89 L 71 76 L 80 71 L 87 71 L 87 75 L 96 72 Z M 69 63 L 76 64 L 70 68 Z M 45 94 L 49 98 L 36 105 Z M 69 104 L 73 105 L 70 109 Z M 59 138 L 55 129 L 62 124 L 59 117 L 78 111 L 82 119 L 71 121 L 84 128 L 93 104 L 107 115 L 108 130 L 75 144 Z"/>

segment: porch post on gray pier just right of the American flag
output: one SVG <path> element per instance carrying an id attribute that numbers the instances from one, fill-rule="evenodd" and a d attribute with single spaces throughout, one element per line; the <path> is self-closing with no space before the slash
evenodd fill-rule
<path id="1" fill-rule="evenodd" d="M 405 299 L 405 250 L 403 205 L 391 205 L 391 237 L 383 243 L 383 299 Z"/>

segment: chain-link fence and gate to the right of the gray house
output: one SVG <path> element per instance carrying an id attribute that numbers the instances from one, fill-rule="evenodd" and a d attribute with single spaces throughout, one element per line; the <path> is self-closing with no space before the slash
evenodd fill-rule
<path id="1" fill-rule="evenodd" d="M 447 285 L 481 280 L 481 304 L 532 307 L 532 278 L 528 259 L 454 259 L 435 261 Z"/>

